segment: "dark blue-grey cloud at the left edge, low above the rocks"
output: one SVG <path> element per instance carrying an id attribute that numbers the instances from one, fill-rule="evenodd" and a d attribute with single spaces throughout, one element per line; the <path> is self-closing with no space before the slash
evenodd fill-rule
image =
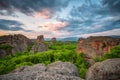
<path id="1" fill-rule="evenodd" d="M 24 26 L 24 24 L 14 21 L 14 20 L 4 20 L 0 19 L 0 29 L 2 30 L 12 30 L 12 31 L 18 31 L 18 30 L 23 30 L 23 31 L 29 31 L 29 30 L 24 30 L 21 28 L 21 26 Z"/>

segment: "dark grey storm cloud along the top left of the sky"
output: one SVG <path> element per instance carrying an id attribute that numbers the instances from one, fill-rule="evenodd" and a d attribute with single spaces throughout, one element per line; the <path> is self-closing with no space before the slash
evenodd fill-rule
<path id="1" fill-rule="evenodd" d="M 0 10 L 14 12 L 15 10 L 31 15 L 44 8 L 52 12 L 60 11 L 68 5 L 69 0 L 0 0 Z"/>

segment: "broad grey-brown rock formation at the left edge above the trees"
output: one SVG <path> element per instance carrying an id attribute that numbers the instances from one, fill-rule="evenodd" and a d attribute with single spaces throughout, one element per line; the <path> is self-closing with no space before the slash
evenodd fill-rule
<path id="1" fill-rule="evenodd" d="M 21 34 L 16 35 L 7 35 L 7 36 L 1 36 L 0 37 L 0 45 L 10 45 L 13 48 L 9 51 L 9 53 L 6 52 L 6 50 L 0 49 L 0 55 L 4 55 L 2 57 L 5 57 L 7 54 L 15 54 L 16 52 L 25 52 L 27 47 L 31 45 L 31 40 L 25 37 Z"/>

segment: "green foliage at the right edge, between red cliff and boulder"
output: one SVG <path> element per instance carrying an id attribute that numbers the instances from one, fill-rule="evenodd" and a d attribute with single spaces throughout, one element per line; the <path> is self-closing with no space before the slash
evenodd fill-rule
<path id="1" fill-rule="evenodd" d="M 120 58 L 120 46 L 115 46 L 110 52 L 105 53 L 102 57 L 95 57 L 95 62 L 101 62 L 106 59 Z"/>

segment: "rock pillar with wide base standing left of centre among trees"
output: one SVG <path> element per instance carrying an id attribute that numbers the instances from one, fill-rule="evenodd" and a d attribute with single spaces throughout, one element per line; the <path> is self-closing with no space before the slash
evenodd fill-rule
<path id="1" fill-rule="evenodd" d="M 44 36 L 40 35 L 37 37 L 37 42 L 33 45 L 31 53 L 47 51 L 48 46 L 45 44 Z"/>

